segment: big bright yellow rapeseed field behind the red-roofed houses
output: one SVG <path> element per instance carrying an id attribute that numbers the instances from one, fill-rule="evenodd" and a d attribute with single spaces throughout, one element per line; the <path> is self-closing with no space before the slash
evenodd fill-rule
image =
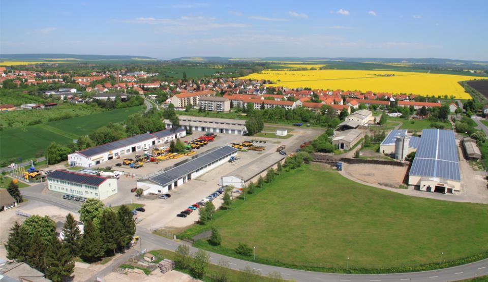
<path id="1" fill-rule="evenodd" d="M 394 75 L 394 76 L 385 76 Z M 288 88 L 310 87 L 312 89 L 342 89 L 389 93 L 407 93 L 422 96 L 454 96 L 457 99 L 471 99 L 464 88 L 457 83 L 472 80 L 472 76 L 429 74 L 397 71 L 263 71 L 242 79 L 271 80 L 277 86 Z"/>

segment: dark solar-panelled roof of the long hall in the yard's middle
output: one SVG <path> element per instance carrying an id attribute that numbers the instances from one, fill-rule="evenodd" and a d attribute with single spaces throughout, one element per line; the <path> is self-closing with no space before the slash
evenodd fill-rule
<path id="1" fill-rule="evenodd" d="M 156 176 L 150 177 L 149 180 L 156 182 L 162 186 L 166 186 L 169 183 L 176 181 L 180 177 L 192 173 L 197 169 L 201 169 L 202 167 L 211 164 L 212 162 L 215 162 L 220 158 L 223 158 L 224 156 L 235 151 L 237 151 L 237 149 L 231 146 L 222 146 L 216 150 L 206 152 L 200 156 L 197 156 L 197 158 L 190 160 L 182 165 L 173 167 Z"/>

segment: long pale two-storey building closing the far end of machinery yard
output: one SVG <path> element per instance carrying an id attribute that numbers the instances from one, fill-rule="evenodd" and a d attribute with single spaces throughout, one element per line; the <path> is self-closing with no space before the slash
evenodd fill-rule
<path id="1" fill-rule="evenodd" d="M 178 118 L 179 125 L 187 130 L 191 128 L 192 131 L 236 135 L 245 135 L 248 133 L 248 130 L 246 129 L 246 120 L 189 115 L 180 115 Z M 166 128 L 171 127 L 171 121 L 169 121 L 169 119 L 165 119 L 164 123 L 166 124 Z"/>

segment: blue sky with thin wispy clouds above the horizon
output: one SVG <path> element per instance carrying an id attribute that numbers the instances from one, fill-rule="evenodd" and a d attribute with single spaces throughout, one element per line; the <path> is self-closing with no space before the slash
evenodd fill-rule
<path id="1" fill-rule="evenodd" d="M 488 60 L 488 1 L 8 1 L 0 53 Z"/>

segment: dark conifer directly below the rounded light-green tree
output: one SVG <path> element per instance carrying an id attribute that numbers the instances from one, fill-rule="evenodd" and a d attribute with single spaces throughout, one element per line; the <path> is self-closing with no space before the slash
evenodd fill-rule
<path id="1" fill-rule="evenodd" d="M 100 260 L 105 252 L 105 246 L 100 231 L 89 218 L 84 222 L 83 236 L 81 237 L 81 258 L 86 262 Z"/>

